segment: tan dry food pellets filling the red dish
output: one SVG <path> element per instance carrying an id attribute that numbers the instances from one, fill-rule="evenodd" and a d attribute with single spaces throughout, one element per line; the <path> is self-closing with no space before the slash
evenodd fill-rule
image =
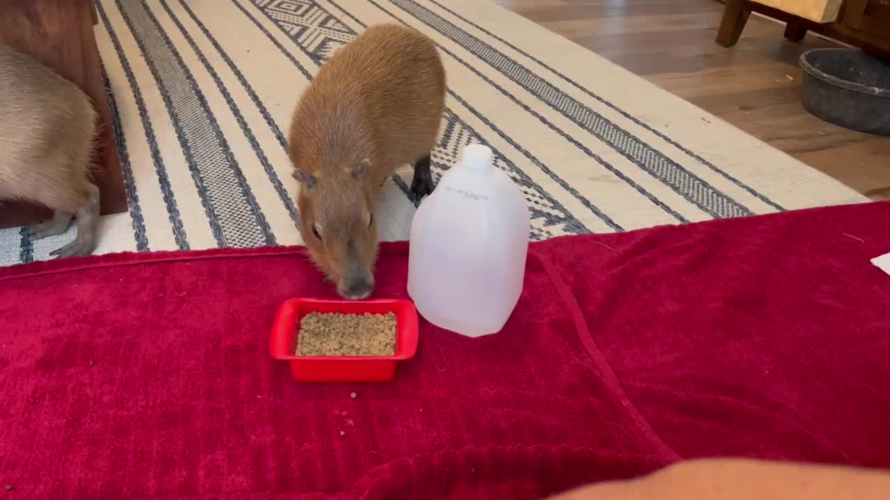
<path id="1" fill-rule="evenodd" d="M 297 327 L 296 356 L 392 356 L 396 317 L 311 312 Z"/>

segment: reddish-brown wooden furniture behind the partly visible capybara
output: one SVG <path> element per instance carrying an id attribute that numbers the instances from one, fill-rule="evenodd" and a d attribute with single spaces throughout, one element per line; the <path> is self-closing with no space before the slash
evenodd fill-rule
<path id="1" fill-rule="evenodd" d="M 0 0 L 0 43 L 28 52 L 79 85 L 93 100 L 100 119 L 95 180 L 101 214 L 117 214 L 127 210 L 126 192 L 93 36 L 94 8 L 92 0 Z M 0 228 L 27 225 L 49 216 L 45 207 L 4 202 Z"/>

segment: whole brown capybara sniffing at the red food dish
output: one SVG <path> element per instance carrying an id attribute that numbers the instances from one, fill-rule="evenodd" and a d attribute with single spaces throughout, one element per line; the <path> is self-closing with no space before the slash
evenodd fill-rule
<path id="1" fill-rule="evenodd" d="M 445 109 L 445 70 L 428 37 L 368 28 L 328 60 L 296 105 L 290 158 L 299 227 L 312 260 L 344 298 L 374 289 L 377 195 L 414 165 L 412 195 L 433 190 L 430 152 Z"/>

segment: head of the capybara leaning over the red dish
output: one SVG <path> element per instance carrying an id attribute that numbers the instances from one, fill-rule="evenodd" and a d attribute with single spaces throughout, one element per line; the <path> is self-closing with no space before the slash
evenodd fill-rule
<path id="1" fill-rule="evenodd" d="M 377 258 L 376 198 L 367 178 L 371 162 L 337 163 L 295 169 L 301 184 L 300 233 L 312 260 L 336 283 L 337 293 L 360 300 L 374 290 Z"/>

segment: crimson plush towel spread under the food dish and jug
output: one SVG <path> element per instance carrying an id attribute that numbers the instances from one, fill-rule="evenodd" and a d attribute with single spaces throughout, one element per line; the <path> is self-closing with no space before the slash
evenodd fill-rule
<path id="1" fill-rule="evenodd" d="M 890 466 L 890 204 L 530 247 L 498 335 L 421 324 L 381 385 L 268 354 L 295 248 L 0 270 L 18 498 L 537 498 L 692 456 Z M 377 296 L 405 297 L 405 244 Z M 355 392 L 357 398 L 352 399 Z"/>

